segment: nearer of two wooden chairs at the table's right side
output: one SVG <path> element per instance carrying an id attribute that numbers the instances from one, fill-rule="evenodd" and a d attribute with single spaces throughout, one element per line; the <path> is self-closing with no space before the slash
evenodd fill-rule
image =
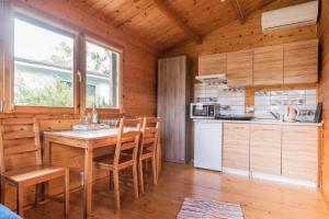
<path id="1" fill-rule="evenodd" d="M 113 174 L 114 181 L 114 199 L 116 210 L 120 210 L 120 186 L 118 186 L 118 172 L 127 168 L 133 169 L 133 182 L 135 198 L 138 198 L 138 176 L 137 176 L 137 153 L 140 136 L 141 118 L 120 120 L 117 143 L 114 154 L 95 158 L 95 166 L 110 171 Z"/>

